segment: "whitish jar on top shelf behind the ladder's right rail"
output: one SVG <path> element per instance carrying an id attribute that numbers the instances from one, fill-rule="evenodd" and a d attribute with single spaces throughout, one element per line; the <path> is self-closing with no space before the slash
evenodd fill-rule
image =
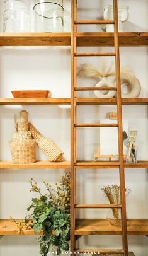
<path id="1" fill-rule="evenodd" d="M 118 6 L 118 30 L 119 32 L 123 32 L 123 23 L 128 18 L 128 9 L 129 7 L 127 5 L 125 6 Z M 108 5 L 105 7 L 104 14 L 103 14 L 104 20 L 113 20 L 113 6 Z M 114 28 L 113 25 L 107 24 L 102 27 L 103 30 L 106 30 L 106 32 L 113 32 Z"/>

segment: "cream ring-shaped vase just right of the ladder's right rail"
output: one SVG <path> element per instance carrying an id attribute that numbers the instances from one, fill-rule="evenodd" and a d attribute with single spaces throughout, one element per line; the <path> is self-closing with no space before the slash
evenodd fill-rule
<path id="1" fill-rule="evenodd" d="M 127 84 L 129 93 L 123 93 L 122 91 L 122 98 L 137 98 L 139 96 L 141 91 L 139 79 L 135 78 L 134 81 L 130 83 L 126 79 L 122 79 L 121 86 L 123 84 Z"/>

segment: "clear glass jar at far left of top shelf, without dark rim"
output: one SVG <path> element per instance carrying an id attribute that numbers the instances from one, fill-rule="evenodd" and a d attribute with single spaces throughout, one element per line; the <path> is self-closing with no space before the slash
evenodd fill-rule
<path id="1" fill-rule="evenodd" d="M 3 32 L 30 30 L 30 0 L 3 0 Z"/>

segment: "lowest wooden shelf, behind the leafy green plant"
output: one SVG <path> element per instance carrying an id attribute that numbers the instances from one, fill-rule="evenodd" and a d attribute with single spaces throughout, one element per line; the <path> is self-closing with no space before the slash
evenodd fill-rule
<path id="1" fill-rule="evenodd" d="M 148 235 L 148 219 L 128 220 L 127 231 L 128 235 Z M 19 233 L 11 219 L 1 219 L 0 236 L 4 235 L 42 235 L 42 232 L 23 230 Z M 77 219 L 75 235 L 121 235 L 121 228 L 111 225 L 107 219 Z"/>

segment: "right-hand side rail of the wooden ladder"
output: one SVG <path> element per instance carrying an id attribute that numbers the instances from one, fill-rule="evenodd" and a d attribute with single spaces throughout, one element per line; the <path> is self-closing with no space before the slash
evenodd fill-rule
<path id="1" fill-rule="evenodd" d="M 118 114 L 118 149 L 120 157 L 120 196 L 121 196 L 121 215 L 122 215 L 122 243 L 124 256 L 128 256 L 127 244 L 127 216 L 126 216 L 126 200 L 125 200 L 125 172 L 123 158 L 123 128 L 122 128 L 122 99 L 121 99 L 121 79 L 120 79 L 120 51 L 119 51 L 119 35 L 118 35 L 118 0 L 113 0 L 114 13 L 114 44 L 115 44 L 115 70 L 116 70 L 116 86 L 117 90 L 117 114 Z"/>

